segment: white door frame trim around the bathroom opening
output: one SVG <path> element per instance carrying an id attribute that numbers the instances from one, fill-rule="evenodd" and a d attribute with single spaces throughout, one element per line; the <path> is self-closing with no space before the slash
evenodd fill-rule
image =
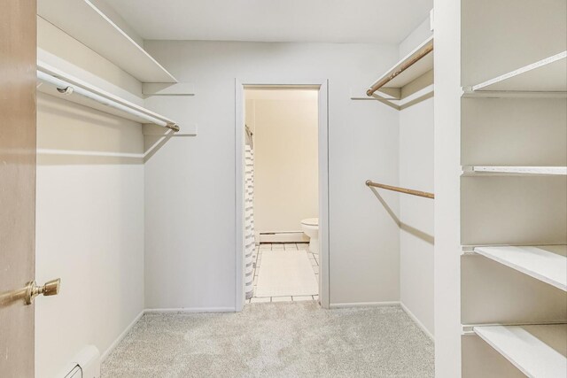
<path id="1" fill-rule="evenodd" d="M 236 311 L 245 304 L 245 89 L 317 89 L 319 90 L 318 156 L 319 156 L 319 299 L 329 308 L 329 85 L 319 81 L 235 81 L 235 184 L 236 184 Z"/>

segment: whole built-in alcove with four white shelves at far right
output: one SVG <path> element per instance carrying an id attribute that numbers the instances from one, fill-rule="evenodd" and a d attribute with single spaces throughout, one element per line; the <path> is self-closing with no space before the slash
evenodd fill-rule
<path id="1" fill-rule="evenodd" d="M 567 372 L 567 22 L 548 5 L 462 0 L 464 378 Z"/>

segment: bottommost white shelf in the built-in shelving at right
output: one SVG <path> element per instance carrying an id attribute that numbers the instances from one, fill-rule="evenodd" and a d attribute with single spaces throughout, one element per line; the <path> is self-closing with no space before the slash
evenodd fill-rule
<path id="1" fill-rule="evenodd" d="M 473 330 L 528 377 L 565 377 L 567 324 L 485 326 Z"/>

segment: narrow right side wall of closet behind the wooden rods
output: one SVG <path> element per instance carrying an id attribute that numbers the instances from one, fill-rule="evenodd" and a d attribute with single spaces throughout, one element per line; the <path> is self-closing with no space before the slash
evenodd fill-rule
<path id="1" fill-rule="evenodd" d="M 405 57 L 431 36 L 430 20 L 400 43 Z M 415 85 L 431 85 L 426 75 Z M 434 192 L 433 97 L 400 111 L 400 186 Z M 400 195 L 400 301 L 433 335 L 433 200 Z"/>

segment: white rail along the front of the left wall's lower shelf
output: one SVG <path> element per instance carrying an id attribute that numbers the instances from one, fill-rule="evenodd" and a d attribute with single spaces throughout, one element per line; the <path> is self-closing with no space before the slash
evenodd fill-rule
<path id="1" fill-rule="evenodd" d="M 155 117 L 152 117 L 149 114 L 145 114 L 144 112 L 139 112 L 136 109 L 129 107 L 128 104 L 120 104 L 119 102 L 107 98 L 105 96 L 101 96 L 98 95 L 97 93 L 94 93 L 92 91 L 90 91 L 89 89 L 84 89 L 78 85 L 75 84 L 71 84 L 68 83 L 66 81 L 63 81 L 61 79 L 58 79 L 57 77 L 54 77 L 52 75 L 50 75 L 49 73 L 44 73 L 42 71 L 37 71 L 37 79 L 40 81 L 45 81 L 48 82 L 52 85 L 54 85 L 59 93 L 62 94 L 66 94 L 66 95 L 71 95 L 71 94 L 77 94 L 77 95 L 81 95 L 81 96 L 85 96 L 87 98 L 90 98 L 93 101 L 96 101 L 97 103 L 100 104 L 104 104 L 106 106 L 110 106 L 113 107 L 114 109 L 118 109 L 121 112 L 128 112 L 129 114 L 135 115 L 136 117 L 139 117 L 143 120 L 147 120 L 150 123 L 153 123 L 155 125 L 161 126 L 161 127 L 168 127 L 171 128 L 174 131 L 179 131 L 179 127 L 177 125 L 175 125 L 175 123 L 173 122 L 167 122 L 165 120 L 159 120 Z"/>

